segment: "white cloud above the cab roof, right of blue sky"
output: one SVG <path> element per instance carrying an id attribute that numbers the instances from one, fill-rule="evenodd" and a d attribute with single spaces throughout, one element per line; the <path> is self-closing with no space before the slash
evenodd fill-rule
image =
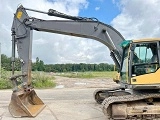
<path id="1" fill-rule="evenodd" d="M 121 13 L 111 24 L 126 39 L 160 37 L 159 5 L 158 0 L 121 0 Z"/>

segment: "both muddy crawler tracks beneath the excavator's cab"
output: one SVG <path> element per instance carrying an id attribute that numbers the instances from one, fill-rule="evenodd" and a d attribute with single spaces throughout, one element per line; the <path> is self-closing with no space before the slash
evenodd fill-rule
<path id="1" fill-rule="evenodd" d="M 102 104 L 107 120 L 153 120 L 160 118 L 160 94 L 121 88 L 99 89 L 95 101 Z"/>

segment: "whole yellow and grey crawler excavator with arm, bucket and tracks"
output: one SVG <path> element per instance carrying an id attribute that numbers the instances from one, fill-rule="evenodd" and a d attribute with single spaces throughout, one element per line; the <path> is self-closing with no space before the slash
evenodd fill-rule
<path id="1" fill-rule="evenodd" d="M 27 11 L 67 20 L 42 20 L 29 17 Z M 13 93 L 9 111 L 14 117 L 35 117 L 45 107 L 31 82 L 32 32 L 43 31 L 97 40 L 110 50 L 119 77 L 119 87 L 94 93 L 102 103 L 106 119 L 160 118 L 160 39 L 125 40 L 112 26 L 95 18 L 70 16 L 49 9 L 48 12 L 20 5 L 12 24 Z M 63 44 L 63 43 L 62 43 Z M 14 74 L 15 47 L 21 62 L 21 75 Z M 20 80 L 19 80 L 20 79 Z M 21 83 L 19 82 L 21 81 Z"/>

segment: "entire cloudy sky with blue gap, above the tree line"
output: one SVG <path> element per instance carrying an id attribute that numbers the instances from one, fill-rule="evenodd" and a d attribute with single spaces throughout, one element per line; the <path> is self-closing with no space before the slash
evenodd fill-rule
<path id="1" fill-rule="evenodd" d="M 11 56 L 11 26 L 17 6 L 48 11 L 52 8 L 73 16 L 96 17 L 113 26 L 125 39 L 160 37 L 159 0 L 0 0 L 1 53 Z M 44 14 L 29 16 L 59 20 Z M 32 60 L 46 64 L 110 63 L 108 48 L 102 43 L 53 33 L 33 32 Z"/>

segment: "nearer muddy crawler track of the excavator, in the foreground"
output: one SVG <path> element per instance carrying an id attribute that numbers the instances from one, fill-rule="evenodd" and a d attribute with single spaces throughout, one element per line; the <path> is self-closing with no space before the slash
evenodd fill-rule
<path id="1" fill-rule="evenodd" d="M 160 94 L 132 94 L 106 98 L 103 112 L 113 119 L 153 120 L 160 117 Z"/>

